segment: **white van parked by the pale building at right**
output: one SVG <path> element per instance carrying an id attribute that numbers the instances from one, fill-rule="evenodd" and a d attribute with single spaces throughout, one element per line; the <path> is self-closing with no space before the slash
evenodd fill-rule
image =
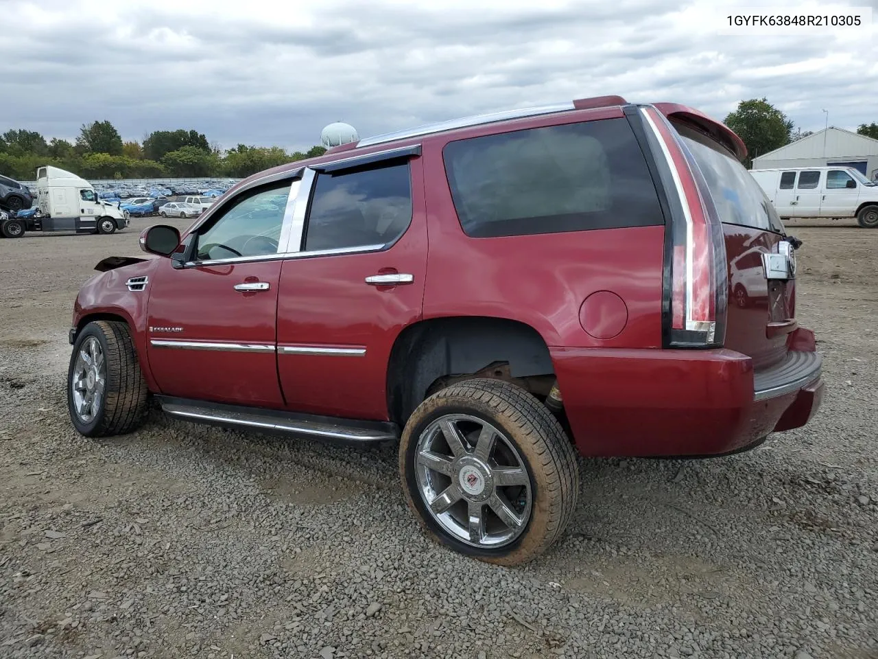
<path id="1" fill-rule="evenodd" d="M 853 167 L 789 167 L 750 170 L 781 219 L 856 218 L 878 228 L 878 185 Z"/>

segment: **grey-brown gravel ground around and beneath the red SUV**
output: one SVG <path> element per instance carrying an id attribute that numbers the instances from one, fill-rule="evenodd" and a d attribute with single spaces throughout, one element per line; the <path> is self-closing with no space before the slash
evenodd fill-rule
<path id="1" fill-rule="evenodd" d="M 829 385 L 807 429 L 716 460 L 581 460 L 524 568 L 426 540 L 391 447 L 170 421 L 91 441 L 72 303 L 117 235 L 0 240 L 0 656 L 878 657 L 878 231 L 791 229 Z"/>

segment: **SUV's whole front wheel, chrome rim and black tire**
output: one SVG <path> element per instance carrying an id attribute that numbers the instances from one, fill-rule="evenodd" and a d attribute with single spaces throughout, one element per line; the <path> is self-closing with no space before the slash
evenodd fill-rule
<path id="1" fill-rule="evenodd" d="M 86 325 L 76 337 L 67 376 L 68 411 L 76 431 L 85 437 L 132 432 L 143 422 L 147 399 L 128 325 Z"/>

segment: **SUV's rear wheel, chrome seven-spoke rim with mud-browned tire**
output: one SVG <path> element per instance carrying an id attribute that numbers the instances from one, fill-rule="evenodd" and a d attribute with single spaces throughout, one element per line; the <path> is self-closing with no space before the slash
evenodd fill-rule
<path id="1" fill-rule="evenodd" d="M 521 387 L 467 380 L 422 402 L 399 445 L 409 507 L 442 544 L 520 565 L 551 547 L 579 493 L 558 420 Z"/>

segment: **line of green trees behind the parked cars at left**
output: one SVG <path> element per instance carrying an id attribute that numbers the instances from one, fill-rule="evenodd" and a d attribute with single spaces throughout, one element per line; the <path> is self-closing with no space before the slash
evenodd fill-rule
<path id="1" fill-rule="evenodd" d="M 110 121 L 84 124 L 76 142 L 25 129 L 0 134 L 0 174 L 30 181 L 37 168 L 54 165 L 85 178 L 242 178 L 284 163 L 321 156 L 322 146 L 306 152 L 238 144 L 222 150 L 196 130 L 158 130 L 142 142 L 123 141 Z"/>

